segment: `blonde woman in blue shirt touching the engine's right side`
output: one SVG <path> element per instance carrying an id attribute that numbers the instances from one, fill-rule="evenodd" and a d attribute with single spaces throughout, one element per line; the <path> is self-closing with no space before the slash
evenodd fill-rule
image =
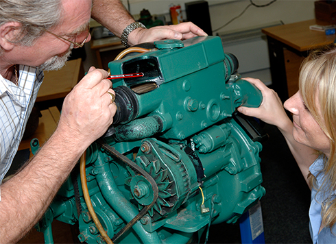
<path id="1" fill-rule="evenodd" d="M 313 243 L 336 243 L 336 46 L 312 51 L 302 63 L 299 91 L 281 103 L 260 80 L 247 78 L 263 93 L 259 108 L 239 112 L 276 125 L 285 136 L 311 188 L 309 210 Z M 289 119 L 285 110 L 293 114 Z"/>

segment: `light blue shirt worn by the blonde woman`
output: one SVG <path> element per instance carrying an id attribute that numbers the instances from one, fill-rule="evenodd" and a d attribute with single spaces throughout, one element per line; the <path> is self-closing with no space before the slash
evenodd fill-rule
<path id="1" fill-rule="evenodd" d="M 324 180 L 324 173 L 322 169 L 324 167 L 324 159 L 323 156 L 320 156 L 311 164 L 309 167 L 309 171 L 315 176 L 317 181 L 317 188 L 319 188 Z M 324 227 L 319 233 L 322 217 L 321 217 L 321 204 L 328 200 L 332 201 L 335 199 L 335 191 L 328 193 L 326 191 L 319 191 L 317 193 L 316 189 L 313 188 L 311 190 L 311 207 L 309 208 L 309 231 L 311 233 L 311 239 L 313 243 L 336 243 L 336 225 L 333 225 L 333 228 Z"/>

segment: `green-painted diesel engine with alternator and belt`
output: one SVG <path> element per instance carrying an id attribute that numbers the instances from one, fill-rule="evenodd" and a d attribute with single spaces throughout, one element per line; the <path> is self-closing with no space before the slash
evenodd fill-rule
<path id="1" fill-rule="evenodd" d="M 86 243 L 188 243 L 265 195 L 261 143 L 235 112 L 261 92 L 219 37 L 131 47 L 108 66 L 141 75 L 115 80 L 114 123 L 38 223 L 46 243 L 53 219 L 78 223 Z"/>

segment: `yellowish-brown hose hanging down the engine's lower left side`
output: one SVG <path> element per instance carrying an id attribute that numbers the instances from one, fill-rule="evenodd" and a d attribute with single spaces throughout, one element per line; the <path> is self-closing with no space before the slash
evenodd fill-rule
<path id="1" fill-rule="evenodd" d="M 86 164 L 86 151 L 84 154 L 80 157 L 80 181 L 82 182 L 82 190 L 83 190 L 83 195 L 84 199 L 86 202 L 86 206 L 88 207 L 88 212 L 90 212 L 90 215 L 93 219 L 93 222 L 95 222 L 95 225 L 97 226 L 99 233 L 101 236 L 103 236 L 104 240 L 108 244 L 113 244 L 112 240 L 106 234 L 106 231 L 104 230 L 103 226 L 101 225 L 95 210 L 93 209 L 92 203 L 91 203 L 91 198 L 90 195 L 88 194 L 88 184 L 86 182 L 86 171 L 85 171 L 85 164 Z"/>

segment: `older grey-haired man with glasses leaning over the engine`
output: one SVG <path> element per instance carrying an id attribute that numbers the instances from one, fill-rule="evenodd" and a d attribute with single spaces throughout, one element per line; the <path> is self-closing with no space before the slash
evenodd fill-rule
<path id="1" fill-rule="evenodd" d="M 0 180 L 23 136 L 43 69 L 60 68 L 72 48 L 90 40 L 91 10 L 101 16 L 99 21 L 106 17 L 106 25 L 119 36 L 134 22 L 116 0 L 95 0 L 94 4 L 91 0 L 0 1 Z M 112 27 L 114 21 L 116 27 Z M 132 30 L 128 45 L 204 34 L 191 23 Z M 34 226 L 86 148 L 111 125 L 116 106 L 111 103 L 109 93 L 114 91 L 107 76 L 106 71 L 93 67 L 88 71 L 64 100 L 58 127 L 49 141 L 1 185 L 0 243 L 14 243 Z"/>

